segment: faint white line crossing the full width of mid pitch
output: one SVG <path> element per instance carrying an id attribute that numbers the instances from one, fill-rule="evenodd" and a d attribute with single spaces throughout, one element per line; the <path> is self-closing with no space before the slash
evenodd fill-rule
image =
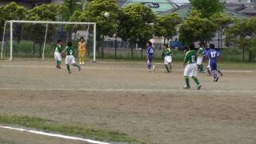
<path id="1" fill-rule="evenodd" d="M 0 90 L 66 90 L 66 91 L 106 91 L 106 92 L 210 92 L 210 93 L 256 93 L 256 90 L 169 90 L 169 89 L 70 89 L 70 88 L 1 88 Z"/>

